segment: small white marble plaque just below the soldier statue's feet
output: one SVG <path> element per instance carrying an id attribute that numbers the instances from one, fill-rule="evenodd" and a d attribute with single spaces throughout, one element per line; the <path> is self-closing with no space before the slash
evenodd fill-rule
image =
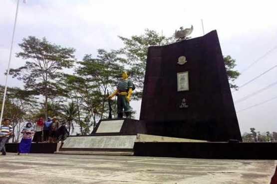
<path id="1" fill-rule="evenodd" d="M 101 121 L 96 133 L 119 133 L 124 119 Z"/>

